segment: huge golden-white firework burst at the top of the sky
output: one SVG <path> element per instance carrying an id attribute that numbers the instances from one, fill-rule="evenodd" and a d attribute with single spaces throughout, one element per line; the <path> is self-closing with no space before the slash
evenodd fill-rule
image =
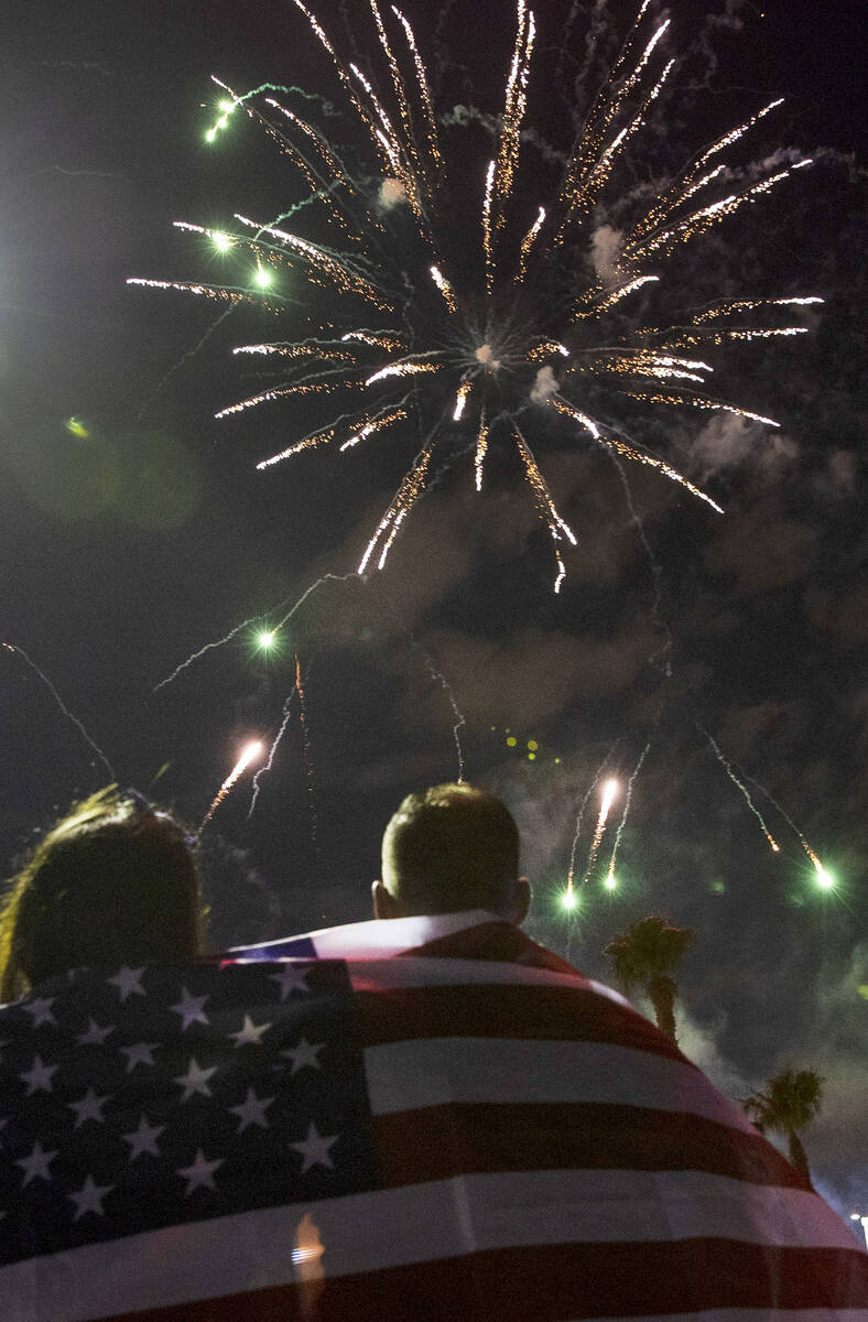
<path id="1" fill-rule="evenodd" d="M 285 317 L 287 338 L 234 350 L 273 365 L 273 379 L 217 418 L 301 397 L 334 401 L 329 420 L 263 459 L 260 468 L 318 447 L 355 449 L 399 426 L 423 438 L 359 574 L 369 563 L 383 567 L 441 453 L 472 451 L 481 489 L 494 447 L 510 447 L 551 535 L 558 591 L 565 572 L 561 549 L 576 538 L 555 506 L 528 435 L 534 442 L 565 435 L 618 461 L 649 465 L 720 510 L 612 419 L 638 402 L 723 410 L 777 426 L 711 394 L 713 365 L 707 360 L 727 344 L 801 334 L 806 328 L 785 324 L 787 313 L 822 300 L 728 297 L 680 311 L 672 321 L 662 311 L 662 291 L 672 254 L 810 164 L 744 172 L 725 160 L 728 148 L 779 102 L 703 147 L 655 194 L 635 190 L 637 214 L 601 262 L 593 256 L 595 215 L 617 189 L 620 165 L 659 107 L 675 66 L 666 57 L 670 20 L 654 20 L 651 0 L 643 0 L 542 201 L 534 194 L 546 172 L 523 160 L 534 136 L 526 118 L 536 36 L 524 0 L 518 3 L 493 149 L 478 161 L 476 196 L 461 185 L 458 198 L 452 181 L 468 177 L 466 153 L 452 145 L 454 131 L 435 111 L 406 16 L 370 0 L 375 46 L 365 73 L 341 57 L 303 0 L 295 5 L 332 63 L 370 160 L 362 168 L 355 149 L 350 155 L 336 145 L 314 119 L 293 110 L 292 89 L 270 83 L 236 95 L 219 83 L 225 99 L 207 140 L 238 116 L 250 116 L 285 155 L 308 196 L 262 223 L 236 213 L 231 233 L 176 222 L 235 263 L 236 284 L 131 282 L 182 290 L 230 309 L 250 303 Z M 317 239 L 285 229 L 289 217 L 316 217 Z M 288 278 L 293 297 L 284 292 Z M 313 286 L 304 304 L 300 279 Z"/>

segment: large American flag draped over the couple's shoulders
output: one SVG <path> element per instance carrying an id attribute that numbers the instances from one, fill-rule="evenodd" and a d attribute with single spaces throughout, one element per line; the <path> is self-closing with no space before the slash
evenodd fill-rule
<path id="1" fill-rule="evenodd" d="M 3 1322 L 867 1317 L 843 1223 L 561 968 L 449 915 L 0 1009 Z"/>

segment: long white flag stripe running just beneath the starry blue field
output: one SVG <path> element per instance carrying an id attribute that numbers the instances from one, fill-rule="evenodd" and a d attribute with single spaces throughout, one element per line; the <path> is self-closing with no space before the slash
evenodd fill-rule
<path id="1" fill-rule="evenodd" d="M 581 1241 L 711 1237 L 853 1247 L 850 1231 L 822 1200 L 801 1190 L 700 1171 L 469 1175 L 172 1225 L 28 1259 L 0 1269 L 3 1318 L 86 1322 L 284 1285 L 293 1278 L 292 1245 L 303 1220 L 307 1243 L 314 1229 L 324 1245 L 325 1277 L 474 1249 Z M 299 1280 L 304 1266 L 297 1268 Z M 696 1314 L 691 1319 L 696 1322 Z"/>

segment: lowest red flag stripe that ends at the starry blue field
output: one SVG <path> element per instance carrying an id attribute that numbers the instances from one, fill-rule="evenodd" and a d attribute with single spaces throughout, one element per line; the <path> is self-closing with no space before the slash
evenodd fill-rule
<path id="1" fill-rule="evenodd" d="M 375 1116 L 386 1187 L 521 1170 L 702 1170 L 810 1192 L 761 1138 L 703 1116 L 597 1104 L 452 1103 Z"/>

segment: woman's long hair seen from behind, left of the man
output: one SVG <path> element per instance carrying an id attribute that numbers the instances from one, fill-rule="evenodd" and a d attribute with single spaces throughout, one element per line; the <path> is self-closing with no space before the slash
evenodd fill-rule
<path id="1" fill-rule="evenodd" d="M 184 828 L 116 785 L 73 804 L 12 878 L 0 910 L 0 1001 L 86 965 L 197 956 L 202 900 Z"/>

